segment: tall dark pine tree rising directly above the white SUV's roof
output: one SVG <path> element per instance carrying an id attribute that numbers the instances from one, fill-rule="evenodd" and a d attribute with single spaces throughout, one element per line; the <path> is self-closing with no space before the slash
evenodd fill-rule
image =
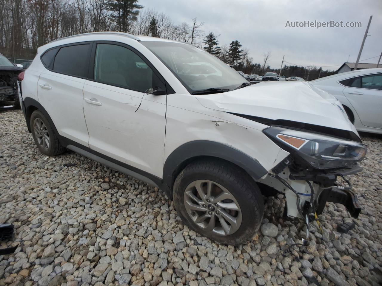
<path id="1" fill-rule="evenodd" d="M 142 8 L 138 0 L 108 0 L 108 10 L 114 12 L 110 17 L 120 32 L 129 31 L 129 22 L 137 20 L 139 9 Z"/>

